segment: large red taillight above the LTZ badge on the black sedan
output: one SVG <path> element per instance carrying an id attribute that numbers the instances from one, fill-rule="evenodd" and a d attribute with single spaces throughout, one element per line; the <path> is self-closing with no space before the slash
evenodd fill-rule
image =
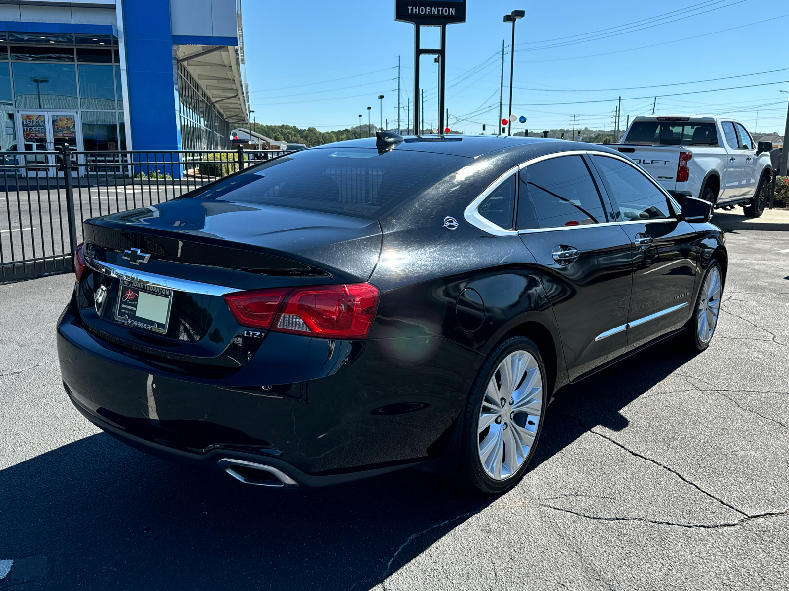
<path id="1" fill-rule="evenodd" d="M 364 339 L 378 305 L 368 283 L 258 289 L 225 296 L 239 324 L 279 333 Z"/>

